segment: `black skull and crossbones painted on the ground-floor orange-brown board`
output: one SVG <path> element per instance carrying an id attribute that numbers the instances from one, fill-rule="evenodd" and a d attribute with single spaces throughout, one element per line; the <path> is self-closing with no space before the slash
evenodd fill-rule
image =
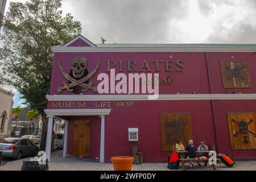
<path id="1" fill-rule="evenodd" d="M 233 135 L 234 137 L 237 137 L 238 134 L 241 134 L 245 139 L 243 143 L 249 143 L 248 134 L 252 134 L 256 138 L 256 134 L 249 130 L 249 125 L 250 123 L 253 123 L 253 119 L 251 119 L 248 123 L 245 121 L 237 122 L 234 119 L 232 119 L 232 122 L 237 123 L 239 127 L 239 130 Z"/>

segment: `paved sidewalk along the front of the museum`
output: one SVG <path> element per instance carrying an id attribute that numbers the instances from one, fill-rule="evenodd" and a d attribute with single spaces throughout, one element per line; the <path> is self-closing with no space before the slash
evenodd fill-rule
<path id="1" fill-rule="evenodd" d="M 1 166 L 0 171 L 20 171 L 22 168 L 22 160 L 14 160 Z M 189 164 L 187 164 L 189 165 Z M 187 166 L 188 168 L 188 166 Z M 93 162 L 85 162 L 84 160 L 62 158 L 62 151 L 53 152 L 51 163 L 49 163 L 50 171 L 112 171 L 112 164 L 100 164 Z M 181 167 L 180 169 L 181 170 Z M 212 167 L 199 167 L 195 164 L 195 171 L 212 171 Z M 217 164 L 218 171 L 256 171 L 256 161 L 236 162 L 233 168 L 228 168 L 224 164 Z M 172 171 L 167 168 L 166 163 L 145 163 L 142 165 L 134 165 L 133 171 Z"/>

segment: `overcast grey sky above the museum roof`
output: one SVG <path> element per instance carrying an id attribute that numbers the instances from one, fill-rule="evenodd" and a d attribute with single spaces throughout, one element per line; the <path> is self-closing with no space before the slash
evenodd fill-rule
<path id="1" fill-rule="evenodd" d="M 256 43 L 255 0 L 63 0 L 63 12 L 93 43 Z"/>

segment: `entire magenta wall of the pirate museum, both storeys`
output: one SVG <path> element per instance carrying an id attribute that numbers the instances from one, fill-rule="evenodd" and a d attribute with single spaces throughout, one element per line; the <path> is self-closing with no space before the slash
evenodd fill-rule
<path id="1" fill-rule="evenodd" d="M 172 55 L 172 59 L 170 59 Z M 55 53 L 53 61 L 50 94 L 59 94 L 57 87 L 67 82 L 59 71 L 59 61 L 66 72 L 69 72 L 71 60 L 75 56 L 84 56 L 88 60 L 89 72 L 98 61 L 101 67 L 92 80 L 97 85 L 98 73 L 106 72 L 106 60 L 135 60 L 141 64 L 143 60 L 183 60 L 185 72 L 164 72 L 164 64 L 160 77 L 174 77 L 174 85 L 160 85 L 160 94 L 199 94 L 218 93 L 226 91 L 241 93 L 256 93 L 256 55 L 253 53 L 208 53 L 210 87 L 207 73 L 205 53 L 170 52 L 170 53 Z M 247 61 L 249 66 L 251 89 L 224 89 L 222 84 L 220 61 Z M 150 64 L 154 65 L 154 64 Z M 126 69 L 126 66 L 123 67 Z M 175 67 L 176 68 L 176 67 Z M 140 69 L 138 67 L 138 69 Z M 118 69 L 117 69 L 118 70 Z M 154 67 L 152 67 L 154 70 Z M 127 72 L 125 72 L 127 74 Z M 146 72 L 145 72 L 146 73 Z M 154 72 L 153 72 L 154 73 Z M 94 86 L 95 86 L 94 85 Z M 73 94 L 64 90 L 61 94 Z M 86 94 L 94 94 L 87 92 Z M 106 117 L 105 162 L 110 162 L 111 156 L 131 155 L 131 147 L 138 146 L 143 152 L 144 162 L 165 162 L 169 152 L 162 152 L 160 139 L 160 113 L 191 113 L 193 139 L 196 146 L 200 140 L 208 142 L 208 146 L 216 145 L 218 152 L 231 155 L 234 159 L 256 159 L 256 150 L 234 151 L 230 146 L 227 112 L 255 112 L 255 101 L 134 101 L 131 108 L 115 108 Z M 95 108 L 95 102 L 86 102 L 87 109 Z M 48 104 L 51 108 L 51 103 Z M 57 108 L 56 108 L 57 109 Z M 215 121 L 213 121 L 213 115 Z M 215 125 L 215 130 L 214 130 Z M 139 128 L 139 142 L 128 142 L 128 128 Z M 93 117 L 91 132 L 90 160 L 100 155 L 100 118 Z M 72 119 L 69 126 L 68 154 L 72 154 L 73 127 Z"/>

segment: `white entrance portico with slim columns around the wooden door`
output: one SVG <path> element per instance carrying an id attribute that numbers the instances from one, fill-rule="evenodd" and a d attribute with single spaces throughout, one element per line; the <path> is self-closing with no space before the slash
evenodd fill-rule
<path id="1" fill-rule="evenodd" d="M 67 116 L 99 116 L 101 118 L 101 140 L 100 140 L 100 163 L 104 163 L 105 154 L 105 116 L 109 115 L 111 109 L 46 109 L 44 112 L 48 117 L 48 129 L 46 140 L 46 158 L 50 161 L 51 158 L 51 142 L 52 142 L 52 126 L 53 118 Z M 67 156 L 67 139 L 68 139 L 68 121 L 65 125 L 63 157 Z"/>

